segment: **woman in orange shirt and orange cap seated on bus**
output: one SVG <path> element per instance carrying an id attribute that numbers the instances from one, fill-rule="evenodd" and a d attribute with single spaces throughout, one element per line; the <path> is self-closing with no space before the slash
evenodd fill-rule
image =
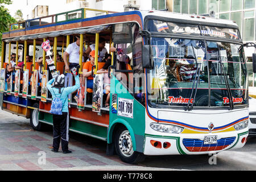
<path id="1" fill-rule="evenodd" d="M 92 67 L 94 65 L 95 51 L 91 51 L 89 61 L 82 67 L 82 75 L 87 78 L 87 88 L 93 89 Z"/>

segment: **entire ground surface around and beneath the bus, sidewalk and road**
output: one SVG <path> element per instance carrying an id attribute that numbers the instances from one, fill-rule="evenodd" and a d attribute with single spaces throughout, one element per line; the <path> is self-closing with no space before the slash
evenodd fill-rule
<path id="1" fill-rule="evenodd" d="M 0 170 L 256 170 L 256 137 L 245 147 L 217 154 L 209 164 L 207 155 L 148 156 L 133 166 L 106 156 L 106 143 L 70 133 L 71 154 L 51 152 L 52 126 L 34 131 L 29 119 L 0 110 Z"/>

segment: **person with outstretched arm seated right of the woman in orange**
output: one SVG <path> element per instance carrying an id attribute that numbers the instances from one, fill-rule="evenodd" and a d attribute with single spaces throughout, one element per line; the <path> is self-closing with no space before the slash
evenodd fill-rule
<path id="1" fill-rule="evenodd" d="M 104 64 L 104 66 L 97 71 L 98 74 L 100 73 L 104 73 L 104 93 L 108 94 L 106 101 L 105 101 L 105 107 L 109 108 L 109 99 L 110 99 L 110 78 L 109 78 L 109 74 L 108 74 L 108 69 L 109 66 L 111 65 L 111 61 L 112 61 L 112 56 L 108 53 L 106 53 L 105 55 L 105 60 L 106 63 Z"/>

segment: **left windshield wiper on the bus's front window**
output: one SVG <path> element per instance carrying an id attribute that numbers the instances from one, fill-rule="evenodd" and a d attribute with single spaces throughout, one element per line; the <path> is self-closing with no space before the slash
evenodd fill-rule
<path id="1" fill-rule="evenodd" d="M 192 110 L 193 109 L 193 105 L 195 103 L 195 98 L 196 98 L 196 93 L 197 93 L 197 88 L 198 88 L 198 84 L 199 84 L 199 80 L 200 80 L 201 63 L 199 63 L 199 64 L 197 63 L 197 57 L 196 57 L 195 49 L 194 49 L 193 46 L 192 46 L 192 48 L 193 48 L 193 54 L 194 54 L 195 61 L 196 61 L 196 75 L 195 75 L 195 78 L 193 80 L 191 95 L 190 95 L 190 98 L 189 98 L 189 101 L 188 101 L 188 105 L 187 105 L 185 110 Z M 199 67 L 198 67 L 198 65 L 199 65 Z M 195 94 L 194 94 L 191 106 L 189 107 L 191 99 L 192 99 L 192 96 L 193 96 L 193 92 L 194 92 L 195 82 L 196 82 Z"/>

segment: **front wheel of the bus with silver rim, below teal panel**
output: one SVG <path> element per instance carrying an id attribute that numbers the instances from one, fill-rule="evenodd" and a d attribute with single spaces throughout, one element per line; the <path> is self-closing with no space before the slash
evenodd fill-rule
<path id="1" fill-rule="evenodd" d="M 144 154 L 133 150 L 130 133 L 125 127 L 119 127 L 115 134 L 115 151 L 125 163 L 137 164 L 145 159 Z"/>

